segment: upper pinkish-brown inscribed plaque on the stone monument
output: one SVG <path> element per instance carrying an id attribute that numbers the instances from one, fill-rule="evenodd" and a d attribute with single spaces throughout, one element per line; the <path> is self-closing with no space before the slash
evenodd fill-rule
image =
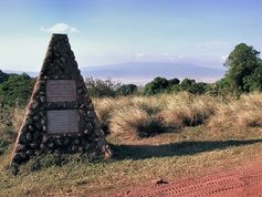
<path id="1" fill-rule="evenodd" d="M 75 80 L 48 80 L 46 102 L 74 102 L 76 101 Z"/>

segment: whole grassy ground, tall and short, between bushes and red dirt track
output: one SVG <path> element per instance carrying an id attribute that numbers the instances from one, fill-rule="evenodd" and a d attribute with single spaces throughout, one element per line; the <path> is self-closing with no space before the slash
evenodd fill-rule
<path id="1" fill-rule="evenodd" d="M 261 160 L 262 94 L 94 100 L 115 155 L 46 155 L 7 170 L 24 110 L 1 108 L 0 196 L 92 196 Z"/>

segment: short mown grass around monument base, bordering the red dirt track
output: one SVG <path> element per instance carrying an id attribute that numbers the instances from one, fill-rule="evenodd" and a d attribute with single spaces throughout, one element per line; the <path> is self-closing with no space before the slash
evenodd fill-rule
<path id="1" fill-rule="evenodd" d="M 0 196 L 92 196 L 150 183 L 161 177 L 203 176 L 259 160 L 262 131 L 210 131 L 187 127 L 145 139 L 109 136 L 115 153 L 111 160 L 80 155 L 48 155 L 23 165 L 17 176 L 7 169 L 12 147 L 0 156 Z"/>

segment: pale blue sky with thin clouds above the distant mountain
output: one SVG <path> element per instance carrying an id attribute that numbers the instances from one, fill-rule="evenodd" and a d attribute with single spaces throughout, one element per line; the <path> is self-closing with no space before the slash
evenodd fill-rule
<path id="1" fill-rule="evenodd" d="M 80 66 L 189 62 L 221 68 L 238 43 L 262 51 L 261 0 L 0 0 L 0 69 L 39 71 L 52 32 Z"/>

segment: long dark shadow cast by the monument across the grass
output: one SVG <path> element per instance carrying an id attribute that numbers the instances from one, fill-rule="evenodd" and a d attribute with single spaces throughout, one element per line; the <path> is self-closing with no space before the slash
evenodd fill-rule
<path id="1" fill-rule="evenodd" d="M 262 143 L 262 139 L 180 142 L 156 146 L 111 144 L 111 147 L 114 152 L 114 159 L 144 159 L 151 157 L 195 155 L 202 152 L 221 151 L 232 146 L 244 146 L 255 143 Z"/>

